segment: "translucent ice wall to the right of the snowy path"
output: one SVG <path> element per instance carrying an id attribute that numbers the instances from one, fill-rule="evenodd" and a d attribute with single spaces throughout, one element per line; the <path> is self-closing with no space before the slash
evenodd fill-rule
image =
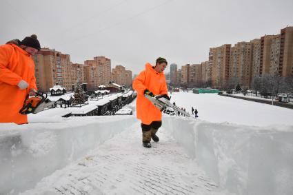
<path id="1" fill-rule="evenodd" d="M 163 126 L 205 172 L 235 194 L 292 194 L 293 127 L 165 117 Z"/>

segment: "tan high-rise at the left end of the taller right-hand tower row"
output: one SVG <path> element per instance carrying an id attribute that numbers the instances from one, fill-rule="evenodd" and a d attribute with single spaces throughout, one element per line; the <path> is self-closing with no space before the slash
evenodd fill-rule
<path id="1" fill-rule="evenodd" d="M 221 83 L 229 79 L 230 44 L 218 48 L 210 48 L 209 61 L 212 68 L 212 85 L 221 86 Z"/>

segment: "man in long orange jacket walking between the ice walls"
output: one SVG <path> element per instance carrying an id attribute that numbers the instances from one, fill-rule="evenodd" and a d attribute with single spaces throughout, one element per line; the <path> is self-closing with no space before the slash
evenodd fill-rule
<path id="1" fill-rule="evenodd" d="M 141 120 L 144 147 L 152 147 L 150 144 L 151 138 L 154 142 L 159 141 L 156 132 L 162 125 L 161 111 L 146 99 L 144 94 L 150 96 L 165 94 L 165 98 L 169 99 L 166 79 L 163 74 L 167 65 L 168 62 L 161 57 L 156 59 L 155 66 L 146 63 L 145 70 L 140 72 L 132 83 L 132 87 L 138 94 L 137 119 Z"/>

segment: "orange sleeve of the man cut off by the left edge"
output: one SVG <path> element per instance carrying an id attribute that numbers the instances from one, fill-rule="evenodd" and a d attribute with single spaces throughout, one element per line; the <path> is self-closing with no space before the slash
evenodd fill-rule
<path id="1" fill-rule="evenodd" d="M 8 69 L 8 64 L 12 56 L 12 49 L 7 45 L 0 46 L 0 81 L 10 85 L 17 85 L 21 81 L 21 76 Z"/>

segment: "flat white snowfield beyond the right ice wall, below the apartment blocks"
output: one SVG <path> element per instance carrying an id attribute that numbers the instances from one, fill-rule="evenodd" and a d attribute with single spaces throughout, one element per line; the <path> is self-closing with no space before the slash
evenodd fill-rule
<path id="1" fill-rule="evenodd" d="M 185 107 L 191 113 L 193 106 L 199 119 L 212 123 L 241 125 L 293 125 L 293 110 L 265 103 L 244 101 L 217 94 L 192 94 L 173 92 L 171 102 Z"/>

